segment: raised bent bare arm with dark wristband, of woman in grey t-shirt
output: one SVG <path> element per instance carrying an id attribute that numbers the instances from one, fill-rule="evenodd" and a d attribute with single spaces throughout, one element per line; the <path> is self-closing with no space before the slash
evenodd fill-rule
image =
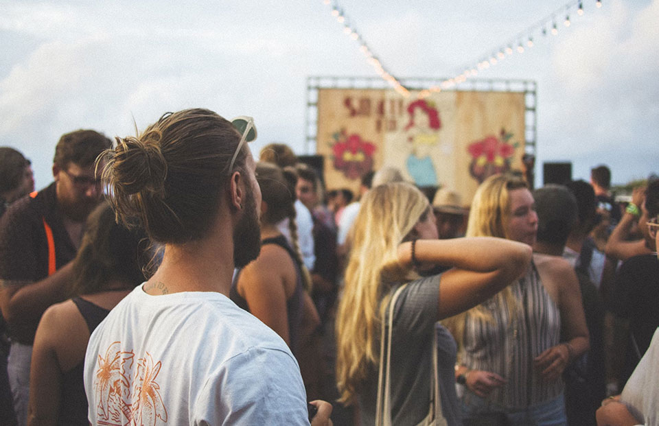
<path id="1" fill-rule="evenodd" d="M 398 247 L 402 265 L 412 265 L 412 243 Z M 441 276 L 437 320 L 470 309 L 519 278 L 529 268 L 531 246 L 494 237 L 424 239 L 415 260 L 451 265 Z"/>

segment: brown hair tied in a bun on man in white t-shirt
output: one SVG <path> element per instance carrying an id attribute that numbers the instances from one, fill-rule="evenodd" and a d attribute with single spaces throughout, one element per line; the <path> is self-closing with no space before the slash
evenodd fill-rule
<path id="1" fill-rule="evenodd" d="M 226 119 L 196 108 L 163 115 L 139 137 L 117 138 L 103 172 L 117 217 L 126 224 L 138 218 L 160 243 L 202 238 L 218 212 L 240 136 Z M 244 167 L 247 150 L 242 147 L 235 169 Z"/>

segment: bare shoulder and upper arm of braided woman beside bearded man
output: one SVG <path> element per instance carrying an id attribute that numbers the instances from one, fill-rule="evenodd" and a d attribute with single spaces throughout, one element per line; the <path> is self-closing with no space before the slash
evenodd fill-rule
<path id="1" fill-rule="evenodd" d="M 283 249 L 268 244 L 259 257 L 243 268 L 238 276 L 238 292 L 249 311 L 290 344 L 284 276 L 290 257 Z M 282 255 L 283 253 L 283 255 Z"/>

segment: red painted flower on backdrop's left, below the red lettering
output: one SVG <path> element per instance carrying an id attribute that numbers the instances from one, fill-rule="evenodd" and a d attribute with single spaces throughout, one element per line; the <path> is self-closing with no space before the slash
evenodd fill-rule
<path id="1" fill-rule="evenodd" d="M 365 141 L 359 134 L 347 134 L 345 129 L 332 135 L 334 144 L 334 168 L 342 171 L 346 178 L 360 178 L 373 168 L 375 145 Z"/>

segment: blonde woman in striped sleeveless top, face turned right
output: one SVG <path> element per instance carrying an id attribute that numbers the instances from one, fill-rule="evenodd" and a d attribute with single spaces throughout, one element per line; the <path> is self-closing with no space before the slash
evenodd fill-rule
<path id="1" fill-rule="evenodd" d="M 527 183 L 487 178 L 474 196 L 467 236 L 502 237 L 531 247 L 537 233 Z M 579 287 L 544 263 L 485 303 L 445 324 L 459 343 L 456 381 L 465 425 L 566 424 L 561 374 L 588 350 Z M 566 341 L 560 342 L 561 335 Z"/>

